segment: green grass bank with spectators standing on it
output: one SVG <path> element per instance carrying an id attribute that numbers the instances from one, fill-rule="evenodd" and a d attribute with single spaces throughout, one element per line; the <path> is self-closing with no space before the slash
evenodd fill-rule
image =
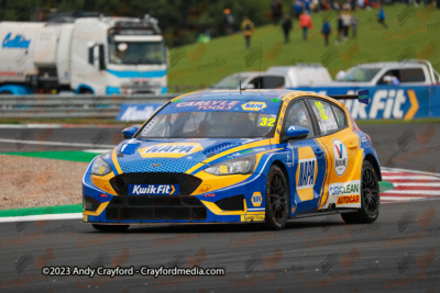
<path id="1" fill-rule="evenodd" d="M 407 9 L 406 11 L 404 11 Z M 409 10 L 408 10 L 409 9 Z M 326 13 L 326 14 L 323 14 Z M 263 58 L 261 68 L 265 70 L 276 65 L 301 63 L 323 64 L 334 76 L 339 70 L 362 63 L 392 61 L 403 58 L 429 59 L 440 70 L 440 10 L 408 8 L 405 4 L 385 7 L 384 29 L 376 20 L 377 9 L 358 11 L 359 30 L 355 40 L 343 45 L 334 45 L 337 21 L 334 12 L 312 14 L 314 29 L 309 41 L 302 42 L 297 22 L 290 34 L 290 43 L 285 45 L 280 27 L 261 26 L 252 38 L 255 47 L 246 50 L 241 33 L 218 37 L 205 44 L 191 44 L 170 50 L 168 83 L 172 90 L 188 91 L 208 87 L 221 78 L 238 71 L 258 70 L 260 46 Z M 398 21 L 400 15 L 400 23 Z M 402 23 L 403 16 L 409 16 Z M 332 18 L 330 46 L 326 47 L 320 34 L 322 18 Z M 405 19 L 405 18 L 404 18 Z M 237 20 L 238 21 L 238 20 Z M 402 25 L 400 25 L 402 24 Z M 251 54 L 251 56 L 248 56 Z M 255 61 L 245 64 L 245 57 Z"/>

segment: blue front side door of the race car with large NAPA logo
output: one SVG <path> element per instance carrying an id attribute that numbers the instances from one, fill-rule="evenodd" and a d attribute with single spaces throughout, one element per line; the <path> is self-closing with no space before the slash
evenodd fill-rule
<path id="1" fill-rule="evenodd" d="M 292 155 L 293 180 L 290 179 L 292 215 L 315 211 L 319 207 L 326 174 L 326 153 L 316 142 L 317 126 L 310 117 L 305 100 L 295 99 L 286 110 L 282 134 L 289 126 L 301 126 L 309 129 L 304 139 L 287 142 Z"/>

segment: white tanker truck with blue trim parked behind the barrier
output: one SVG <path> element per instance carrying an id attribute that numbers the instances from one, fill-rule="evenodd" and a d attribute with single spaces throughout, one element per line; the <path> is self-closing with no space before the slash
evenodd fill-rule
<path id="1" fill-rule="evenodd" d="M 147 14 L 0 22 L 0 94 L 167 91 L 167 48 Z"/>

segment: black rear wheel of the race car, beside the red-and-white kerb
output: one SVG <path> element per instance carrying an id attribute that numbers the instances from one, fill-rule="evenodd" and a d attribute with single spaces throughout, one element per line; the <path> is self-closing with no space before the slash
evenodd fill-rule
<path id="1" fill-rule="evenodd" d="M 377 219 L 381 210 L 381 194 L 376 171 L 370 161 L 364 161 L 361 173 L 361 210 L 341 214 L 348 224 L 367 224 Z"/>

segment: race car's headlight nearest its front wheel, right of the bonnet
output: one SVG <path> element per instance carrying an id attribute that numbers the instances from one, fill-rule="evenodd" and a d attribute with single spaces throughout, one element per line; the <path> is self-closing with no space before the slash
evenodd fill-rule
<path id="1" fill-rule="evenodd" d="M 255 156 L 218 162 L 205 169 L 210 174 L 246 174 L 255 168 Z"/>

